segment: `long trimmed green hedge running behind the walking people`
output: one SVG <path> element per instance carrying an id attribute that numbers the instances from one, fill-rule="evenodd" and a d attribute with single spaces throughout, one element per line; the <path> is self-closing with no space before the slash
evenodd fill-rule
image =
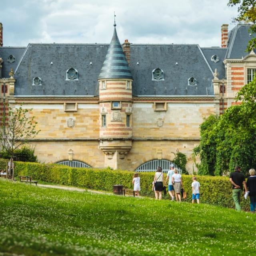
<path id="1" fill-rule="evenodd" d="M 108 168 L 72 168 L 57 164 L 16 162 L 15 174 L 16 176 L 32 176 L 35 180 L 45 182 L 112 192 L 115 184 L 122 184 L 124 188 L 133 189 L 132 176 L 134 172 Z M 141 172 L 139 176 L 140 194 L 154 197 L 152 192 L 154 172 Z M 228 177 L 197 176 L 197 178 L 201 185 L 200 201 L 202 203 L 234 208 L 232 187 Z M 187 192 L 185 201 L 190 202 L 192 199 L 192 176 L 182 175 L 182 180 Z M 166 197 L 169 198 L 168 195 Z M 241 207 L 243 210 L 249 210 L 249 200 L 245 200 L 243 197 Z"/>

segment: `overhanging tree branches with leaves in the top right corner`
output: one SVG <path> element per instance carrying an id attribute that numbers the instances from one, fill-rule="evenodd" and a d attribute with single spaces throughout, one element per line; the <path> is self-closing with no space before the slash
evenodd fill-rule
<path id="1" fill-rule="evenodd" d="M 249 31 L 252 39 L 248 42 L 246 52 L 256 48 L 256 1 L 255 0 L 229 0 L 228 6 L 238 6 L 238 16 L 235 18 L 238 22 L 250 23 Z"/>

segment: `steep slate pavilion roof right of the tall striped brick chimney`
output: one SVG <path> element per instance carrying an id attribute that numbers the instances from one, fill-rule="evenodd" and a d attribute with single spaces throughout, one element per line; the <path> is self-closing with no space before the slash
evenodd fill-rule
<path id="1" fill-rule="evenodd" d="M 249 24 L 238 24 L 229 33 L 228 36 L 228 51 L 225 56 L 226 59 L 237 59 L 248 55 L 250 52 L 245 52 L 248 41 L 252 39 L 252 34 L 248 31 L 250 28 Z M 254 50 L 256 52 L 256 50 Z"/>

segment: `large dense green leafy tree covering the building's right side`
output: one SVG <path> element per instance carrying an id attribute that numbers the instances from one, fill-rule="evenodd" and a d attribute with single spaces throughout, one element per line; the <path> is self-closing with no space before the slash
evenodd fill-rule
<path id="1" fill-rule="evenodd" d="M 256 168 L 256 76 L 236 97 L 240 105 L 223 115 L 211 115 L 200 126 L 200 144 L 194 153 L 200 157 L 198 174 L 223 175 L 242 167 L 246 174 Z"/>

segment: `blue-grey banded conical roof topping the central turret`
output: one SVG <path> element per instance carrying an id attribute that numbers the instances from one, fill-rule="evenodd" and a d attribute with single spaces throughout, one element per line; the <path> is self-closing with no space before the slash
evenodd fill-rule
<path id="1" fill-rule="evenodd" d="M 130 67 L 116 34 L 116 24 L 114 24 L 112 40 L 98 77 L 98 79 L 108 78 L 132 79 Z"/>

